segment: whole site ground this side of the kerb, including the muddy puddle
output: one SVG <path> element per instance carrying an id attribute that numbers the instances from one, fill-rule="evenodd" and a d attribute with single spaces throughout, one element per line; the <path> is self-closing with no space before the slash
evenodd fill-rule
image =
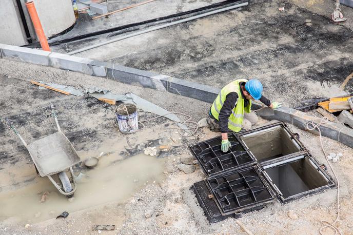
<path id="1" fill-rule="evenodd" d="M 56 131 L 50 103 L 58 122 L 81 159 L 100 152 L 118 150 L 102 157 L 94 170 L 76 166 L 88 177 L 79 182 L 72 200 L 58 195 L 47 178 L 39 178 L 28 152 L 12 130 L 0 126 L 0 231 L 2 234 L 96 234 L 93 225 L 114 224 L 114 231 L 104 234 L 245 234 L 234 219 L 209 225 L 202 208 L 189 187 L 205 178 L 200 168 L 186 174 L 177 165 L 191 158 L 187 146 L 219 135 L 201 128 L 192 138 L 183 138 L 179 130 L 165 130 L 167 120 L 152 121 L 144 130 L 130 135 L 119 132 L 114 120 L 114 106 L 92 97 L 64 95 L 38 89 L 30 80 L 70 85 L 83 90 L 96 86 L 114 93 L 134 92 L 169 111 L 190 114 L 194 120 L 206 117 L 210 104 L 162 91 L 155 91 L 80 73 L 0 60 L 0 115 L 9 119 L 24 139 L 32 142 Z M 140 120 L 152 114 L 139 113 Z M 259 127 L 267 124 L 260 120 Z M 312 155 L 326 164 L 319 137 L 289 125 L 300 135 Z M 178 132 L 178 133 L 176 133 Z M 172 141 L 170 139 L 175 141 Z M 155 141 L 160 140 L 160 141 Z M 353 150 L 323 138 L 327 152 L 341 152 L 334 164 L 341 183 L 341 221 L 344 234 L 353 229 Z M 138 153 L 137 145 L 170 145 L 156 156 Z M 129 152 L 130 151 L 130 152 Z M 328 171 L 330 174 L 332 172 Z M 125 175 L 125 176 L 124 176 Z M 47 193 L 45 202 L 41 196 Z M 254 234 L 317 234 L 320 220 L 336 217 L 336 189 L 311 195 L 285 205 L 279 202 L 245 214 L 240 221 Z M 94 200 L 92 196 L 94 195 Z M 63 211 L 69 217 L 55 219 Z M 26 224 L 27 228 L 25 228 Z M 330 231 L 326 230 L 327 234 Z"/>

